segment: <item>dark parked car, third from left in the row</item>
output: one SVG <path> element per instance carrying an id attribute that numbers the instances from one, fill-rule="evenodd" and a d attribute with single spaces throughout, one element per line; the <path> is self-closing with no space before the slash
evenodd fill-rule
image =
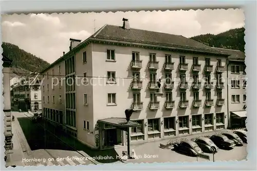
<path id="1" fill-rule="evenodd" d="M 220 148 L 234 148 L 235 146 L 234 141 L 228 139 L 225 135 L 213 135 L 210 139 Z"/>

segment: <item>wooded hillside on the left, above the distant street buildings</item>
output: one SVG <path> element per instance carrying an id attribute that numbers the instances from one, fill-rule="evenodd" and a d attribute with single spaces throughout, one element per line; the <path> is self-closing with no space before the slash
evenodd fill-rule
<path id="1" fill-rule="evenodd" d="M 40 72 L 50 65 L 47 61 L 32 55 L 18 46 L 3 42 L 3 54 L 12 60 L 12 70 L 15 72 Z"/>

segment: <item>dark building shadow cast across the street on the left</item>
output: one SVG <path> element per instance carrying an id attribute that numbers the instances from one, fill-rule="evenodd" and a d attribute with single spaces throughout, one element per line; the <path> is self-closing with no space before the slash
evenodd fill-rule
<path id="1" fill-rule="evenodd" d="M 32 151 L 36 149 L 84 151 L 90 157 L 106 156 L 105 159 L 94 158 L 100 163 L 113 163 L 118 161 L 118 159 L 116 159 L 118 154 L 115 149 L 105 149 L 103 151 L 91 149 L 66 134 L 63 130 L 57 129 L 57 127 L 47 121 L 43 120 L 40 123 L 34 123 L 28 117 L 19 117 L 17 120 L 22 127 L 23 133 Z"/>

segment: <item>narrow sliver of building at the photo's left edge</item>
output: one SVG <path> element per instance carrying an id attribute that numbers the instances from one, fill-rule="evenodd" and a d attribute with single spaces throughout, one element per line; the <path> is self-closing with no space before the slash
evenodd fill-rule
<path id="1" fill-rule="evenodd" d="M 10 97 L 10 66 L 11 60 L 3 55 L 3 96 L 4 96 L 4 114 L 5 114 L 5 149 L 13 148 L 12 144 L 12 116 L 11 116 L 11 97 Z"/>

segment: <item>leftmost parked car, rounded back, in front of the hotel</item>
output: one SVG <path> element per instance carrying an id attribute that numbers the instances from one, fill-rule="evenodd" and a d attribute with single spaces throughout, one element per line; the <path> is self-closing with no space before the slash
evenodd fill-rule
<path id="1" fill-rule="evenodd" d="M 192 140 L 185 140 L 174 144 L 174 150 L 188 154 L 190 156 L 196 156 L 198 153 L 204 153 L 201 148 Z"/>

